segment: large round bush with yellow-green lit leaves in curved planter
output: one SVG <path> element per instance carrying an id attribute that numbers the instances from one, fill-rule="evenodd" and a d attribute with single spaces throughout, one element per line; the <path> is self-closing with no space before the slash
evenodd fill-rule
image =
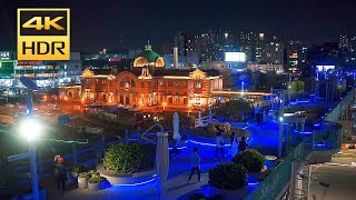
<path id="1" fill-rule="evenodd" d="M 155 167 L 156 147 L 135 142 L 117 143 L 107 150 L 103 166 L 117 173 L 136 173 Z"/>

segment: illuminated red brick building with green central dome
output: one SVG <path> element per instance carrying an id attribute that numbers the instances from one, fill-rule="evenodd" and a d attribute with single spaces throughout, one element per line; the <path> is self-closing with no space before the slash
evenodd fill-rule
<path id="1" fill-rule="evenodd" d="M 211 91 L 222 90 L 222 77 L 218 71 L 166 69 L 164 66 L 164 59 L 147 44 L 130 71 L 95 74 L 86 69 L 81 100 L 86 104 L 121 103 L 144 109 L 206 108 L 216 102 Z"/>

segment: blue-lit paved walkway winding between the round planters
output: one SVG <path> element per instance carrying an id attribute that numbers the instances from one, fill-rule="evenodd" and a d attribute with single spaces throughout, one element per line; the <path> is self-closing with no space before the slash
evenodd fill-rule
<path id="1" fill-rule="evenodd" d="M 266 128 L 258 128 L 255 122 L 249 123 L 231 123 L 233 127 L 247 129 L 251 132 L 248 140 L 249 148 L 259 150 L 263 154 L 276 154 L 278 142 L 278 124 L 271 123 Z M 215 139 L 205 140 L 207 143 L 215 143 Z M 190 171 L 189 156 L 192 148 L 199 148 L 201 157 L 201 178 L 204 181 L 188 184 L 187 180 Z M 228 153 L 229 147 L 225 147 L 225 153 Z M 219 157 L 221 157 L 219 154 Z M 186 147 L 178 154 L 170 156 L 170 170 L 167 181 L 167 192 L 164 199 L 188 199 L 189 194 L 201 192 L 209 193 L 208 171 L 218 163 L 226 162 L 228 159 L 219 159 L 215 161 L 215 146 L 198 144 L 187 142 Z M 267 167 L 273 162 L 266 163 Z M 195 174 L 192 180 L 197 179 Z M 256 177 L 249 177 L 249 191 L 258 184 Z M 88 190 L 75 189 L 65 194 L 52 193 L 48 199 L 158 199 L 156 191 L 156 181 L 136 187 L 110 187 L 101 191 L 92 192 Z"/>

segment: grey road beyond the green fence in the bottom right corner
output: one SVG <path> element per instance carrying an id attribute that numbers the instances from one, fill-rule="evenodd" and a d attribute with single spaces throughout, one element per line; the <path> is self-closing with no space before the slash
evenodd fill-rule
<path id="1" fill-rule="evenodd" d="M 356 199 L 356 168 L 347 166 L 332 166 L 327 163 L 314 164 L 312 177 L 329 183 L 329 188 L 312 181 L 309 199 L 316 200 L 354 200 Z M 314 200 L 313 199 L 313 200 Z"/>

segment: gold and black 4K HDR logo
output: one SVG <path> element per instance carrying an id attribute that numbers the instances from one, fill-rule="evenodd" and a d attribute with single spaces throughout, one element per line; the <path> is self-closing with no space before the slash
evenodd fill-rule
<path id="1" fill-rule="evenodd" d="M 18 9 L 18 60 L 69 60 L 69 9 Z"/>

